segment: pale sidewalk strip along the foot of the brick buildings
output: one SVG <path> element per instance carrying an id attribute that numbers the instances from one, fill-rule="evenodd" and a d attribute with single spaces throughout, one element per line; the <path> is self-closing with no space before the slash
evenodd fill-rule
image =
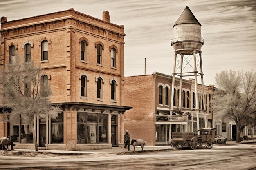
<path id="1" fill-rule="evenodd" d="M 256 140 L 245 140 L 241 141 L 240 143 L 236 143 L 236 141 L 227 141 L 226 144 L 218 144 L 218 145 L 233 145 L 233 144 L 253 144 L 256 143 Z M 161 150 L 175 150 L 176 148 L 172 148 L 171 146 L 144 146 L 144 151 L 141 151 L 141 147 L 137 146 L 135 148 L 135 152 L 154 152 L 154 151 L 161 151 Z M 39 150 L 39 152 L 43 153 L 53 153 L 53 154 L 93 154 L 93 153 L 126 153 L 131 152 L 134 153 L 133 146 L 130 146 L 130 150 L 128 151 L 126 148 L 121 147 L 112 147 L 111 149 L 99 149 L 99 150 L 79 150 L 79 151 L 67 151 L 67 150 Z M 32 149 L 15 149 L 15 151 L 20 152 L 34 152 L 35 150 Z"/>

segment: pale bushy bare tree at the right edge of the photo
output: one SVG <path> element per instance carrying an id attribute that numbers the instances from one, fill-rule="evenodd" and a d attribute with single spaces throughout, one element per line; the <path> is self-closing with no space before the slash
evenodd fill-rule
<path id="1" fill-rule="evenodd" d="M 256 71 L 221 71 L 215 76 L 213 112 L 217 120 L 236 123 L 236 142 L 245 126 L 256 123 Z"/>

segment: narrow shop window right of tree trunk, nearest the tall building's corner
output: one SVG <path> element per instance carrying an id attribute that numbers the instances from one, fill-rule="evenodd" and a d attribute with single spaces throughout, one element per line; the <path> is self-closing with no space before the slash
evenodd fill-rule
<path id="1" fill-rule="evenodd" d="M 63 113 L 59 113 L 56 119 L 51 119 L 52 144 L 63 144 Z"/>

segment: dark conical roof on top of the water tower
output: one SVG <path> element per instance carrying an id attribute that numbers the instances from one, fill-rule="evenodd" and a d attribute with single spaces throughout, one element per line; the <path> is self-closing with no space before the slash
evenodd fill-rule
<path id="1" fill-rule="evenodd" d="M 200 26 L 202 26 L 195 18 L 195 15 L 191 12 L 188 6 L 186 6 L 186 8 L 173 26 L 177 24 L 199 24 Z"/>

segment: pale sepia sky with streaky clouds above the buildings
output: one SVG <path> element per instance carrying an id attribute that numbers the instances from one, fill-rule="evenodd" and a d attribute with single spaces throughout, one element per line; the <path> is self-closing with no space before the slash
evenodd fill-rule
<path id="1" fill-rule="evenodd" d="M 256 69 L 256 0 L 0 0 L 8 21 L 74 8 L 124 25 L 124 75 L 173 72 L 173 24 L 188 5 L 201 27 L 204 84 L 216 73 Z M 193 78 L 193 77 L 191 77 Z M 188 79 L 186 77 L 185 79 Z"/>

